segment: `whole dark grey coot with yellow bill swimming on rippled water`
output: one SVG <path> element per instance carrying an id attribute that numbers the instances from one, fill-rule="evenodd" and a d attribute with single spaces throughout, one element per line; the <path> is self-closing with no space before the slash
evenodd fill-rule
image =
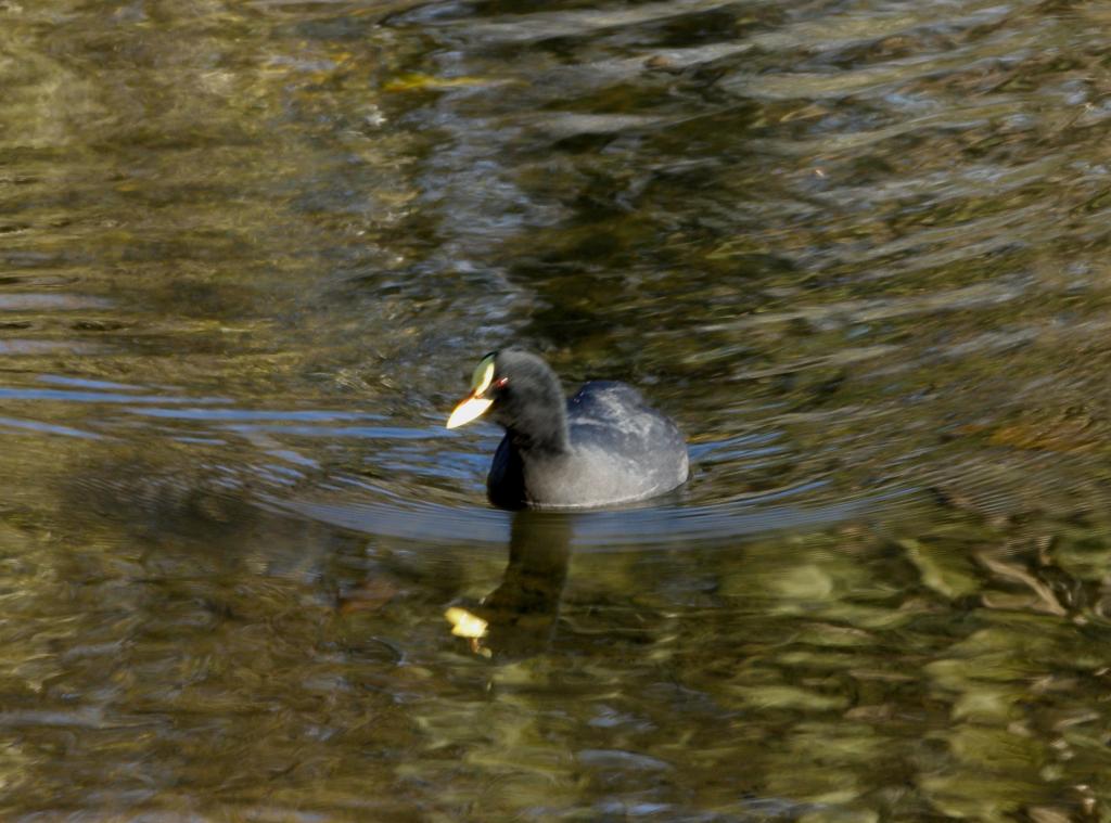
<path id="1" fill-rule="evenodd" d="M 506 429 L 487 479 L 494 505 L 629 503 L 671 491 L 689 473 L 682 433 L 631 385 L 591 381 L 564 400 L 551 368 L 520 349 L 482 359 L 448 428 L 487 412 Z"/>

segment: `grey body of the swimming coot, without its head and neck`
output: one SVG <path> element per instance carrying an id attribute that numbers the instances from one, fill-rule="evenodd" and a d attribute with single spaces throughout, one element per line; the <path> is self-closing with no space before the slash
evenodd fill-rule
<path id="1" fill-rule="evenodd" d="M 682 485 L 687 443 L 625 383 L 592 381 L 567 401 L 563 451 L 521 451 L 508 433 L 487 478 L 490 500 L 516 509 L 581 509 L 644 500 Z"/>

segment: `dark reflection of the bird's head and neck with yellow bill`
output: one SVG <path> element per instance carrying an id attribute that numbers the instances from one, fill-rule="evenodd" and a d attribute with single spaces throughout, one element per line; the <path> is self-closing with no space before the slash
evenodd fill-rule
<path id="1" fill-rule="evenodd" d="M 509 565 L 501 585 L 478 606 L 452 606 L 452 633 L 490 656 L 531 654 L 551 639 L 571 555 L 571 515 L 520 511 L 513 514 Z"/>

